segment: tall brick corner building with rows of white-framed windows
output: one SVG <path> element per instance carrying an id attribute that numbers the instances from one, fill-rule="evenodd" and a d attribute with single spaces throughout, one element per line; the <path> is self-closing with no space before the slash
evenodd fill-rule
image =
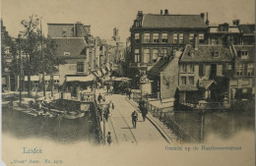
<path id="1" fill-rule="evenodd" d="M 159 57 L 167 57 L 172 47 L 184 47 L 199 36 L 200 44 L 206 44 L 205 35 L 209 21 L 205 14 L 170 15 L 143 14 L 142 11 L 134 21 L 131 31 L 131 66 L 146 72 L 157 62 Z"/>

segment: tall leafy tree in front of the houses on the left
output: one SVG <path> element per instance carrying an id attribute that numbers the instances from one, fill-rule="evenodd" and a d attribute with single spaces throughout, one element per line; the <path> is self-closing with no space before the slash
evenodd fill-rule
<path id="1" fill-rule="evenodd" d="M 23 20 L 21 24 L 24 26 L 23 37 L 17 45 L 21 46 L 21 50 L 26 55 L 23 66 L 24 73 L 28 76 L 28 96 L 31 96 L 31 76 L 43 73 L 52 75 L 57 70 L 56 66 L 59 64 L 60 58 L 55 57 L 56 43 L 50 38 L 43 37 L 40 28 L 38 28 L 40 19 L 36 15 L 32 15 L 29 20 Z M 43 57 L 44 68 L 42 66 Z M 19 65 L 18 67 L 20 68 Z"/>

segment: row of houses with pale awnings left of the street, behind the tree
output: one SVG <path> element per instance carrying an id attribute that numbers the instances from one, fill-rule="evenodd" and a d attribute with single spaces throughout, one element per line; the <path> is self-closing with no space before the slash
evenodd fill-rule
<path id="1" fill-rule="evenodd" d="M 91 34 L 91 26 L 85 26 L 80 22 L 47 24 L 47 28 L 48 37 L 57 45 L 55 56 L 60 57 L 63 62 L 57 66 L 58 70 L 53 73 L 53 78 L 45 74 L 46 90 L 51 88 L 53 82 L 56 90 L 69 90 L 72 95 L 76 95 L 79 88 L 88 87 L 87 82 L 109 76 L 115 69 L 116 63 L 123 60 L 124 46 L 117 28 L 113 29 L 111 39 L 94 37 Z M 10 55 L 12 56 L 16 55 Z M 19 90 L 20 87 L 26 90 L 28 77 L 22 76 L 21 85 L 19 77 L 19 74 L 3 71 L 2 87 L 9 91 Z M 42 75 L 32 76 L 32 87 L 40 87 L 40 83 L 42 83 Z"/>

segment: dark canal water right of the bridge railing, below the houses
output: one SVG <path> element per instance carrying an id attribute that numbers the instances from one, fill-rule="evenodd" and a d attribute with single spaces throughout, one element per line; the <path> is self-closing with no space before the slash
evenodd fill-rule
<path id="1" fill-rule="evenodd" d="M 210 110 L 205 113 L 175 112 L 171 119 L 198 142 L 207 141 L 210 136 L 221 139 L 232 138 L 241 132 L 254 132 L 254 109 L 235 109 L 227 112 Z"/>

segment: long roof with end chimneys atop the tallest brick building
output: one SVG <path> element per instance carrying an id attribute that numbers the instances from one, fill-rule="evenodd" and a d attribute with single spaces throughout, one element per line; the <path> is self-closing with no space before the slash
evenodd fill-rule
<path id="1" fill-rule="evenodd" d="M 200 15 L 153 15 L 143 17 L 142 28 L 207 28 Z"/>

